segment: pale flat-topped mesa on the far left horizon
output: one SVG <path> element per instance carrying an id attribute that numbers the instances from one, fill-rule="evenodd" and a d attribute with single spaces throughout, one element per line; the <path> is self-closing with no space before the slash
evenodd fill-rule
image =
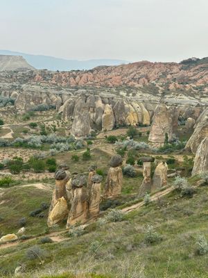
<path id="1" fill-rule="evenodd" d="M 22 56 L 0 55 L 0 71 L 34 70 Z"/>

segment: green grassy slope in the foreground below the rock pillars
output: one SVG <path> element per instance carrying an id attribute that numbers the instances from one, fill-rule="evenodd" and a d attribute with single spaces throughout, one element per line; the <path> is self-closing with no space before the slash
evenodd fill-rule
<path id="1" fill-rule="evenodd" d="M 189 182 L 194 185 L 196 180 Z M 1 277 L 14 273 L 18 265 L 26 268 L 21 277 L 207 277 L 208 255 L 196 254 L 198 234 L 208 237 L 207 190 L 198 187 L 192 198 L 174 191 L 124 215 L 121 222 L 98 220 L 85 231 L 73 231 L 71 237 L 65 231 L 60 242 L 42 244 L 35 238 L 0 249 Z M 21 193 L 30 196 L 31 209 L 32 203 L 37 206 L 37 191 L 34 196 L 28 188 Z M 14 208 L 8 206 L 7 211 L 12 215 Z M 36 224 L 44 225 L 38 218 Z M 28 252 L 31 247 L 40 252 L 36 259 Z"/>

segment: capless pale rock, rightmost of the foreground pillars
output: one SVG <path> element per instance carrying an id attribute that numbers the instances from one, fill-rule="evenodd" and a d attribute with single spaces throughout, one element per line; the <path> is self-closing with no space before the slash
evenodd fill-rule
<path id="1" fill-rule="evenodd" d="M 153 186 L 151 191 L 158 190 L 167 185 L 168 165 L 165 162 L 159 163 L 153 175 Z"/>

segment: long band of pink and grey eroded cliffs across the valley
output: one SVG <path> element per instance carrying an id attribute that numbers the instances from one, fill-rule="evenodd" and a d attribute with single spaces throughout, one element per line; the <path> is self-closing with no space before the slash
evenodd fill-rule
<path id="1" fill-rule="evenodd" d="M 71 72 L 4 71 L 0 94 L 16 99 L 19 113 L 39 104 L 55 105 L 63 120 L 73 121 L 76 136 L 153 122 L 150 142 L 164 142 L 164 133 L 172 140 L 179 115 L 197 124 L 208 105 L 208 59 L 192 62 L 139 62 Z M 163 105 L 155 113 L 158 104 Z"/>

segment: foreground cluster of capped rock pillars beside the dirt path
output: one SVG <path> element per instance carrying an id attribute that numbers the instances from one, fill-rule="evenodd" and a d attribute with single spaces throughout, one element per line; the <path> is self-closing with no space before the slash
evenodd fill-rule
<path id="1" fill-rule="evenodd" d="M 143 157 L 141 159 L 144 162 L 144 181 L 139 189 L 139 196 L 143 197 L 146 193 L 166 186 L 168 167 L 166 163 L 159 163 L 153 179 L 151 179 L 150 168 L 153 158 Z M 60 170 L 55 173 L 55 188 L 49 208 L 49 227 L 62 222 L 65 218 L 67 218 L 67 228 L 73 227 L 75 224 L 85 224 L 88 220 L 97 218 L 101 199 L 121 195 L 122 163 L 121 156 L 112 156 L 103 196 L 101 196 L 103 177 L 96 174 L 96 165 L 89 167 L 88 179 L 82 174 L 74 174 L 70 177 L 68 168 L 64 165 L 60 166 Z"/>

